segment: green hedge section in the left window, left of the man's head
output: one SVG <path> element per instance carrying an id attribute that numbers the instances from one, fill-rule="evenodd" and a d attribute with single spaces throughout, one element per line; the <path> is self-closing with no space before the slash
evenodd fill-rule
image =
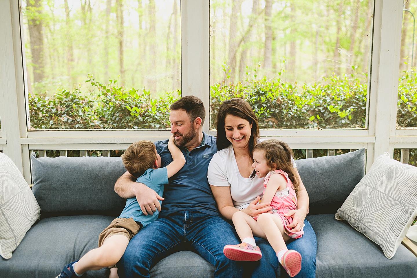
<path id="1" fill-rule="evenodd" d="M 149 91 L 126 90 L 118 80 L 103 84 L 88 75 L 91 93 L 59 89 L 50 98 L 30 94 L 30 124 L 36 129 L 53 128 L 169 128 L 169 106 L 179 91 L 152 99 Z M 97 92 L 95 92 L 97 90 Z M 87 95 L 87 96 L 84 96 Z"/>

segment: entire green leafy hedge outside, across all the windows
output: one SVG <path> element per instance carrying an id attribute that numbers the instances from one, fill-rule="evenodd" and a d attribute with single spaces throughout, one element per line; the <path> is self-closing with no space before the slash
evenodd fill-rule
<path id="1" fill-rule="evenodd" d="M 211 115 L 229 98 L 244 98 L 259 118 L 261 128 L 364 128 L 367 76 L 332 75 L 314 84 L 283 82 L 256 75 L 237 84 L 216 83 L 210 88 Z M 151 98 L 149 91 L 130 90 L 96 81 L 88 75 L 90 93 L 79 88 L 60 89 L 53 97 L 29 95 L 30 124 L 35 129 L 55 128 L 169 128 L 169 105 L 181 92 Z M 398 125 L 417 127 L 417 74 L 399 78 Z M 214 127 L 214 117 L 211 126 Z"/>

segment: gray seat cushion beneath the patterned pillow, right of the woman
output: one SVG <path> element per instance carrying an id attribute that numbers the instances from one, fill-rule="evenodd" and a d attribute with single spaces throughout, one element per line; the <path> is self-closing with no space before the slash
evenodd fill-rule
<path id="1" fill-rule="evenodd" d="M 317 235 L 317 278 L 415 278 L 417 257 L 402 244 L 392 259 L 346 221 L 333 214 L 309 215 Z"/>

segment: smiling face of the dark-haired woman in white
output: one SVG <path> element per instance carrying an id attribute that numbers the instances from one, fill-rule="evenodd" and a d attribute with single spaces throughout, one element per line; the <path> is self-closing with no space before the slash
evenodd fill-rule
<path id="1" fill-rule="evenodd" d="M 252 133 L 251 128 L 252 124 L 237 116 L 227 115 L 224 119 L 226 138 L 232 143 L 234 148 L 248 147 Z"/>

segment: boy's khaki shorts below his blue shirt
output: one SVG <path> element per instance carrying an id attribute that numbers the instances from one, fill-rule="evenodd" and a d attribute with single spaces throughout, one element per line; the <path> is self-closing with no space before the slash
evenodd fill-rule
<path id="1" fill-rule="evenodd" d="M 103 245 L 104 240 L 112 235 L 124 235 L 131 240 L 141 228 L 142 225 L 136 223 L 133 218 L 116 218 L 100 233 L 100 236 L 98 237 L 98 247 Z"/>

